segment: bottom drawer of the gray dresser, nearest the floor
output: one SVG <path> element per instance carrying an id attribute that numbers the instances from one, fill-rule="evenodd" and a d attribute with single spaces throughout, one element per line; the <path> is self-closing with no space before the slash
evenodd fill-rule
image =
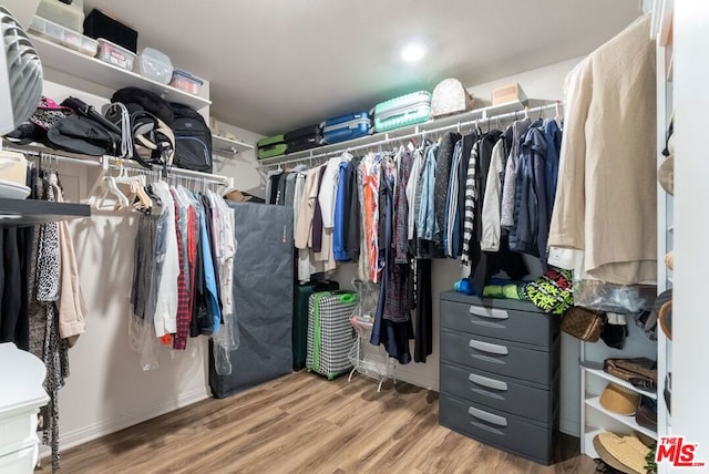
<path id="1" fill-rule="evenodd" d="M 538 424 L 444 393 L 439 403 L 441 425 L 537 463 L 552 463 L 556 425 Z"/>

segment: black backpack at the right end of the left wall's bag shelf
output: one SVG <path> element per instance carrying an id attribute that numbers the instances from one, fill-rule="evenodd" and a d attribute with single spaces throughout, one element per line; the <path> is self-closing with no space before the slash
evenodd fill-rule
<path id="1" fill-rule="evenodd" d="M 175 157 L 173 164 L 184 169 L 212 173 L 212 132 L 194 109 L 171 104 L 175 113 Z"/>

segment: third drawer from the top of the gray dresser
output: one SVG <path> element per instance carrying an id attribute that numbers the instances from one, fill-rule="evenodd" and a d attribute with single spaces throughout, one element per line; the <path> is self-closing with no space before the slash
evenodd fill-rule
<path id="1" fill-rule="evenodd" d="M 558 378 L 558 373 L 556 374 Z M 540 423 L 552 424 L 556 411 L 552 390 L 476 369 L 441 363 L 441 392 Z M 554 387 L 554 385 L 552 385 Z"/>

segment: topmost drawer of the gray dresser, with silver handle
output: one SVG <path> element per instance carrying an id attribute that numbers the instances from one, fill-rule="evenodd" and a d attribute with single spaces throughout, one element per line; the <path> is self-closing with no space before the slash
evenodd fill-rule
<path id="1" fill-rule="evenodd" d="M 558 317 L 542 312 L 441 300 L 441 327 L 490 338 L 548 347 Z"/>

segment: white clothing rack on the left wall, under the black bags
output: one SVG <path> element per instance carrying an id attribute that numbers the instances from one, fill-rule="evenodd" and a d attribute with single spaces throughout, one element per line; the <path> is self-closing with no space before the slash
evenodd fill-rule
<path id="1" fill-rule="evenodd" d="M 2 146 L 2 150 L 7 150 L 9 152 L 22 153 L 25 156 L 34 157 L 39 159 L 48 159 L 54 161 L 56 163 L 70 163 L 81 166 L 92 166 L 92 167 L 101 167 L 104 172 L 109 169 L 120 169 L 121 166 L 130 169 L 132 173 L 151 173 L 157 172 L 161 169 L 158 166 L 153 166 L 152 169 L 144 168 L 140 166 L 137 163 L 132 162 L 126 158 L 117 158 L 114 156 L 103 155 L 103 156 L 89 156 L 81 155 L 78 153 L 55 153 L 55 151 L 47 151 L 42 146 L 38 145 L 7 145 Z M 205 187 L 207 184 L 215 184 L 217 186 L 225 186 L 226 188 L 234 187 L 234 178 L 222 175 L 213 175 L 207 173 L 194 172 L 191 169 L 183 169 L 176 166 L 169 168 L 168 179 L 187 179 L 195 183 L 204 183 Z"/>

